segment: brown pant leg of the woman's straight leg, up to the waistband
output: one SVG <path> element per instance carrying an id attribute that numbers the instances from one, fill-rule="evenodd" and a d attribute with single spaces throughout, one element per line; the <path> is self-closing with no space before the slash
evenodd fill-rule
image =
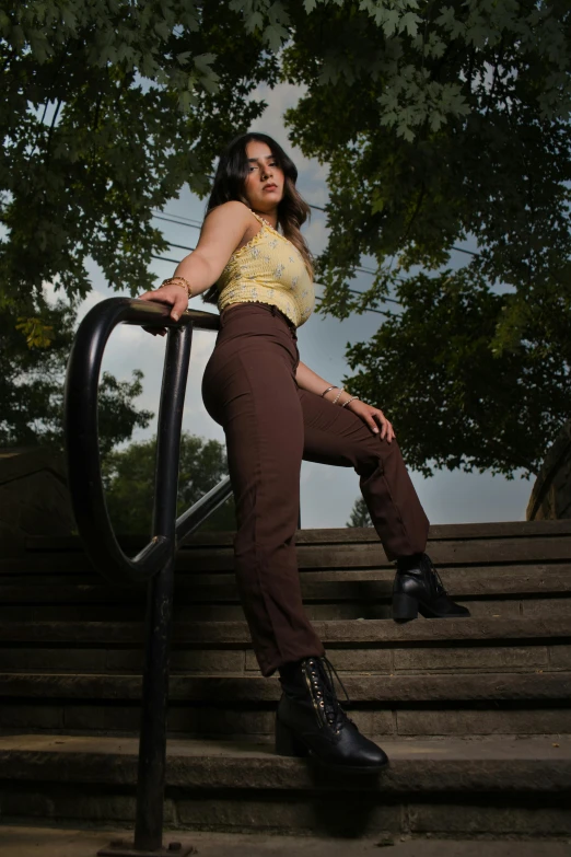
<path id="1" fill-rule="evenodd" d="M 303 452 L 299 357 L 284 322 L 266 310 L 235 308 L 230 317 L 205 372 L 203 397 L 226 436 L 237 586 L 261 672 L 271 675 L 284 663 L 324 653 L 303 609 L 295 554 Z"/>

